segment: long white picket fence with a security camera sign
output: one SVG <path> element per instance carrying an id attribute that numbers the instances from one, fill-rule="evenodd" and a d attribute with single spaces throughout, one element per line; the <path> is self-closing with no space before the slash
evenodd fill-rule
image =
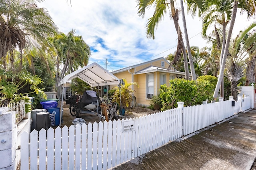
<path id="1" fill-rule="evenodd" d="M 250 108 L 250 107 L 249 107 Z M 140 118 L 42 129 L 21 139 L 21 170 L 106 170 L 239 112 L 232 101 L 170 109 Z M 124 132 L 124 125 L 134 130 Z M 47 137 L 46 137 L 47 133 Z M 30 143 L 28 141 L 30 135 Z M 30 158 L 30 159 L 29 159 Z"/>

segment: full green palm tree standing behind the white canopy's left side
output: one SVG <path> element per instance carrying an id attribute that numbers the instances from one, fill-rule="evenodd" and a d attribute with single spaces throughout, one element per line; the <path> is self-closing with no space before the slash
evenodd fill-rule
<path id="1" fill-rule="evenodd" d="M 65 74 L 74 72 L 79 66 L 86 66 L 91 55 L 90 47 L 82 39 L 82 36 L 75 35 L 76 31 L 72 30 L 67 35 L 60 33 L 54 39 L 54 45 L 58 51 L 58 64 L 63 64 L 63 69 L 60 75 L 56 73 L 56 89 L 58 83 L 64 78 Z M 59 66 L 57 65 L 57 68 Z M 61 87 L 57 90 L 57 95 L 60 98 Z"/>

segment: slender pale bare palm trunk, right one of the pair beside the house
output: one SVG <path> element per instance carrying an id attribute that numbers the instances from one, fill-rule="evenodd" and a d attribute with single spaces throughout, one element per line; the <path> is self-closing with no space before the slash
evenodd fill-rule
<path id="1" fill-rule="evenodd" d="M 184 14 L 183 0 L 180 0 L 180 6 L 181 6 L 182 22 L 183 22 L 183 27 L 184 27 L 184 35 L 185 35 L 186 46 L 187 46 L 187 51 L 188 51 L 188 61 L 189 61 L 189 66 L 190 66 L 190 72 L 192 75 L 192 80 L 196 80 L 196 72 L 195 72 L 195 68 L 194 68 L 192 54 L 190 51 L 189 41 L 188 41 L 188 30 L 187 30 L 186 18 L 185 18 L 185 14 Z"/>

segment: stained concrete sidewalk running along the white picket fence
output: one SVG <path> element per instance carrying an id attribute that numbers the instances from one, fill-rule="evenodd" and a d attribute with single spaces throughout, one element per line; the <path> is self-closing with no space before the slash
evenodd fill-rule
<path id="1" fill-rule="evenodd" d="M 256 109 L 152 150 L 113 170 L 250 170 L 256 158 Z"/>

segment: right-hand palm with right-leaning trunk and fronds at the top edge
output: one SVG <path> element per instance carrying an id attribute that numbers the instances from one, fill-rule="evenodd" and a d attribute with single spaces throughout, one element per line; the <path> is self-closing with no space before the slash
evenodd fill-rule
<path id="1" fill-rule="evenodd" d="M 254 1 L 255 0 L 253 0 L 252 2 Z M 222 50 L 220 53 L 220 75 L 218 77 L 218 82 L 214 90 L 214 100 L 212 101 L 214 102 L 218 95 L 218 91 L 220 90 L 220 85 L 222 84 L 223 81 L 224 68 L 228 55 L 228 47 L 231 39 L 232 30 L 234 27 L 234 21 L 236 19 L 237 8 L 242 8 L 242 11 L 246 11 L 248 17 L 250 17 L 252 16 L 252 12 L 254 11 L 252 10 L 254 6 L 252 6 L 252 3 L 244 0 L 240 1 L 239 4 L 237 0 L 234 0 L 233 3 L 231 1 L 226 0 L 208 0 L 207 7 L 208 8 L 206 12 L 208 12 L 208 14 L 206 14 L 203 19 L 203 35 L 206 35 L 207 28 L 210 26 L 210 24 L 214 23 L 215 21 L 222 25 L 222 35 L 226 35 L 226 24 L 230 23 L 228 35 L 227 37 L 223 36 L 225 38 L 222 39 Z"/>

